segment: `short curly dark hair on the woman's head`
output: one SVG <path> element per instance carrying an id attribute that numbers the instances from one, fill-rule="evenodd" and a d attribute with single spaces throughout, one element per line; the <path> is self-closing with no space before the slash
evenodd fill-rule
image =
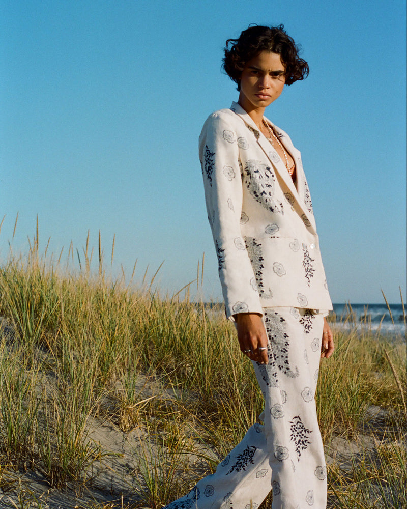
<path id="1" fill-rule="evenodd" d="M 280 55 L 285 65 L 285 84 L 290 85 L 306 78 L 309 73 L 307 62 L 299 56 L 300 49 L 294 39 L 287 35 L 284 25 L 249 26 L 240 34 L 239 39 L 226 41 L 222 67 L 240 90 L 240 76 L 246 63 L 261 51 L 271 51 Z"/>

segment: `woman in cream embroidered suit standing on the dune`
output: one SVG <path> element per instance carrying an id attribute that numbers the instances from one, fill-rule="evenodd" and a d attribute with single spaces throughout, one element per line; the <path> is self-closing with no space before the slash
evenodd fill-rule
<path id="1" fill-rule="evenodd" d="M 332 309 L 300 152 L 265 108 L 308 74 L 283 26 L 250 26 L 226 41 L 223 67 L 238 103 L 203 126 L 199 154 L 226 315 L 253 363 L 265 410 L 242 442 L 167 507 L 326 507 L 314 393 L 330 357 Z M 322 341 L 321 341 L 322 340 Z"/>

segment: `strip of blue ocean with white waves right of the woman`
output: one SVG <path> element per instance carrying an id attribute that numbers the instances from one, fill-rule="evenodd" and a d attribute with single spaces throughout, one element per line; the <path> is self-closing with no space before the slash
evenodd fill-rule
<path id="1" fill-rule="evenodd" d="M 337 326 L 381 332 L 384 335 L 406 336 L 402 304 L 333 304 L 332 318 Z M 404 309 L 407 309 L 404 305 Z"/>

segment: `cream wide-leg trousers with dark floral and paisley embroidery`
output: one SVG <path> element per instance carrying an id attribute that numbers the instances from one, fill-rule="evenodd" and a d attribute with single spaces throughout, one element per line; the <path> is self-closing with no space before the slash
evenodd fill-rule
<path id="1" fill-rule="evenodd" d="M 264 308 L 269 364 L 253 361 L 264 412 L 243 440 L 184 497 L 165 509 L 326 509 L 324 448 L 314 401 L 323 315 Z"/>

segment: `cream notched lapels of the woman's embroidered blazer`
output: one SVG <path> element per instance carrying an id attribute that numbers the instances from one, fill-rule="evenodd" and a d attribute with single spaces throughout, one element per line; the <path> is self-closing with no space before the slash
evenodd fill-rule
<path id="1" fill-rule="evenodd" d="M 294 147 L 290 138 L 285 134 L 285 132 L 281 131 L 278 127 L 274 126 L 274 124 L 270 122 L 269 119 L 266 118 L 266 120 L 270 122 L 270 124 L 274 127 L 276 133 L 279 135 L 281 143 L 284 145 L 284 147 L 288 150 L 288 152 L 292 155 L 293 159 L 295 160 L 297 175 L 297 187 L 296 187 L 293 182 L 293 179 L 287 172 L 285 164 L 282 162 L 277 152 L 273 149 L 269 140 L 262 133 L 259 132 L 256 124 L 253 122 L 250 115 L 248 115 L 247 112 L 240 106 L 240 104 L 236 102 L 232 102 L 230 109 L 234 111 L 237 115 L 239 115 L 239 117 L 243 119 L 248 128 L 253 132 L 257 139 L 257 143 L 259 144 L 261 149 L 263 149 L 264 153 L 266 154 L 269 161 L 272 163 L 276 172 L 278 173 L 280 178 L 284 181 L 290 193 L 293 195 L 294 201 L 301 210 L 300 215 L 303 218 L 304 222 L 306 224 L 308 222 L 309 224 L 307 225 L 312 226 L 312 228 L 315 230 L 316 228 L 315 218 L 313 214 L 307 209 L 305 203 L 305 175 L 302 167 L 300 152 Z"/>

